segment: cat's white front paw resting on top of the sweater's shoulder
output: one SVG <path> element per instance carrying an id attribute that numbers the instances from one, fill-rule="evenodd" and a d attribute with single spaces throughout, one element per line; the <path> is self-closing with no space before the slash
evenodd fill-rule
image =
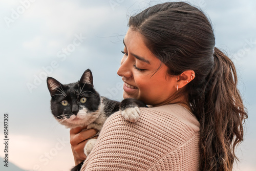
<path id="1" fill-rule="evenodd" d="M 137 122 L 140 118 L 140 110 L 137 106 L 134 108 L 126 108 L 121 110 L 121 115 L 125 120 Z"/>

